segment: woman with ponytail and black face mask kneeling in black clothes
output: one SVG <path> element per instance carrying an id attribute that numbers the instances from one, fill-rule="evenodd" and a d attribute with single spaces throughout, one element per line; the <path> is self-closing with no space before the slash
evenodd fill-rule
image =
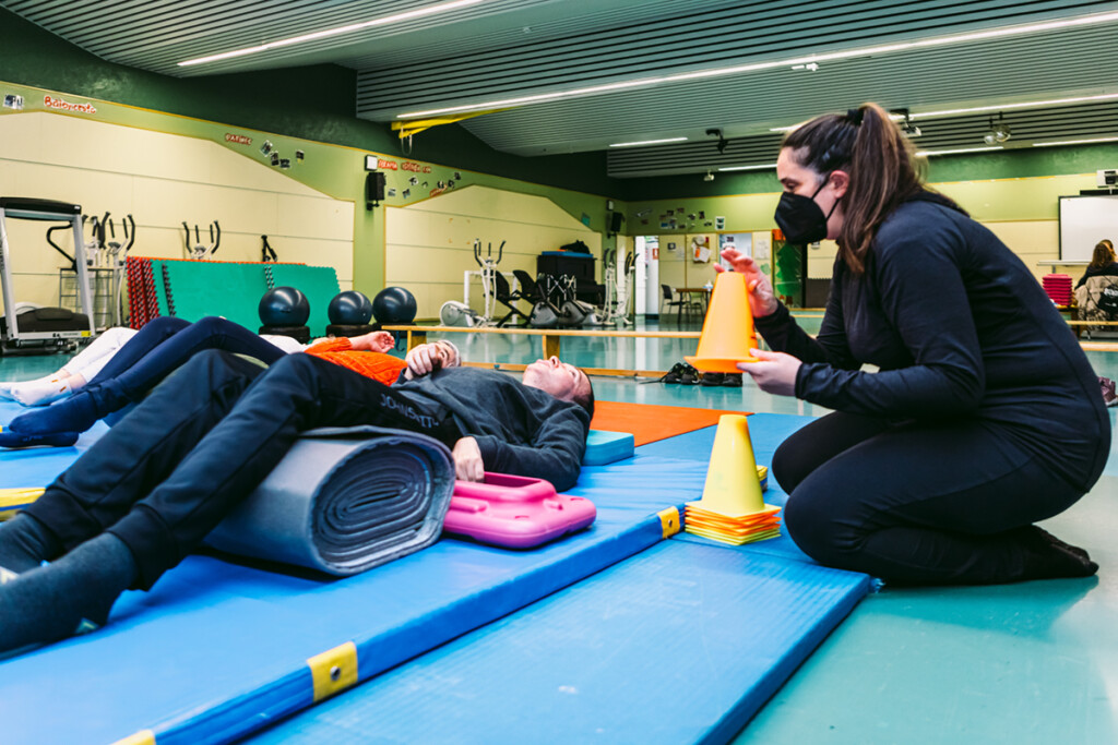
<path id="1" fill-rule="evenodd" d="M 761 390 L 834 410 L 785 440 L 785 523 L 816 561 L 907 584 L 1095 574 L 1033 525 L 1099 478 L 1110 421 L 1098 379 L 1032 273 L 927 189 L 879 106 L 789 132 L 776 221 L 792 243 L 839 243 L 816 338 L 743 254 Z M 879 372 L 862 370 L 873 365 Z"/>

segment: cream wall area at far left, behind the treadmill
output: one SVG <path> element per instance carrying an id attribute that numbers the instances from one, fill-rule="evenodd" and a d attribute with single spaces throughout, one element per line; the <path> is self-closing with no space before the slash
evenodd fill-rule
<path id="1" fill-rule="evenodd" d="M 259 261 L 266 235 L 281 261 L 331 266 L 343 289 L 352 286 L 352 202 L 205 140 L 77 116 L 0 115 L 0 195 L 68 201 L 114 219 L 131 213 L 133 256 L 184 258 L 182 221 L 198 223 L 209 242 L 207 226 L 218 220 L 215 259 Z M 16 299 L 55 305 L 66 260 L 45 240 L 49 223 L 7 227 Z M 72 250 L 69 235 L 55 236 Z"/>

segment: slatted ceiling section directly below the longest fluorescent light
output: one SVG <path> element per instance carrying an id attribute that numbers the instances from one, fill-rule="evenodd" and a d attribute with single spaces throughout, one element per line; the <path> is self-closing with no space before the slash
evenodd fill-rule
<path id="1" fill-rule="evenodd" d="M 957 105 L 1118 93 L 1114 70 L 1100 64 L 1116 38 L 1118 23 L 1110 23 L 1026 39 L 842 60 L 823 64 L 814 73 L 781 68 L 537 104 L 481 116 L 464 126 L 499 150 L 561 153 L 571 150 L 572 143 L 600 150 L 615 142 L 673 135 L 702 140 L 710 127 L 719 127 L 732 139 L 864 101 L 919 113 Z M 1051 58 L 1061 64 L 1036 63 Z"/>

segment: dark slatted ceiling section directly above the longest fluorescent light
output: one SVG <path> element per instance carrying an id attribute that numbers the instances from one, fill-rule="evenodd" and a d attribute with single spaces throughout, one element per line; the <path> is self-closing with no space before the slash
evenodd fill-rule
<path id="1" fill-rule="evenodd" d="M 685 6 L 686 3 L 680 3 Z M 1118 7 L 1118 3 L 1080 3 Z M 1059 0 L 1020 2 L 896 2 L 796 0 L 730 3 L 674 18 L 585 29 L 541 45 L 479 50 L 411 65 L 364 68 L 358 111 L 372 120 L 436 105 L 474 104 L 531 88 L 533 93 L 615 83 L 806 52 L 862 48 L 1049 19 L 1067 12 Z"/>

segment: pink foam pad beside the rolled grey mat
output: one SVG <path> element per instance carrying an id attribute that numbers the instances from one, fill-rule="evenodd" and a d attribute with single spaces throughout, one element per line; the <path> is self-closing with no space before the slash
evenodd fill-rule
<path id="1" fill-rule="evenodd" d="M 582 497 L 556 494 L 539 478 L 485 472 L 484 481 L 456 481 L 443 531 L 506 548 L 531 548 L 594 523 L 598 510 Z"/>

